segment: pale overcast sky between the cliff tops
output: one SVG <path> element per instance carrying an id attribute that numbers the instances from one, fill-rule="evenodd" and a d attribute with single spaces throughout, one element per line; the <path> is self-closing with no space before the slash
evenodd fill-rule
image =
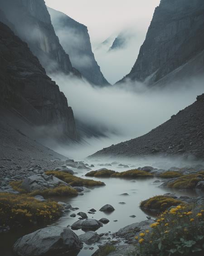
<path id="1" fill-rule="evenodd" d="M 86 25 L 94 45 L 128 26 L 146 31 L 160 0 L 45 0 L 45 3 Z"/>

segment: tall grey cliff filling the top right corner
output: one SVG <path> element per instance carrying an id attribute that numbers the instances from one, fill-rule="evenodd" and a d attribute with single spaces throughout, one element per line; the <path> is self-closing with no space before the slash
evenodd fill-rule
<path id="1" fill-rule="evenodd" d="M 204 1 L 161 0 L 126 79 L 168 84 L 204 74 Z"/>

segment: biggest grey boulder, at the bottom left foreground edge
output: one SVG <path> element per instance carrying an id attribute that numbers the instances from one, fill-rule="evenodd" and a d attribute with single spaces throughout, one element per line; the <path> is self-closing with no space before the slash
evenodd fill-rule
<path id="1" fill-rule="evenodd" d="M 19 238 L 14 245 L 18 256 L 43 256 L 80 250 L 83 243 L 69 228 L 50 226 Z"/>

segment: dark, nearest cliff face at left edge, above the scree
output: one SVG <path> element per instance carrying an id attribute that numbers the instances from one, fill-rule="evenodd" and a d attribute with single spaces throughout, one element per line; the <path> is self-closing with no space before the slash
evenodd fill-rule
<path id="1" fill-rule="evenodd" d="M 27 44 L 1 22 L 0 70 L 0 107 L 44 127 L 53 138 L 78 138 L 66 97 Z"/>

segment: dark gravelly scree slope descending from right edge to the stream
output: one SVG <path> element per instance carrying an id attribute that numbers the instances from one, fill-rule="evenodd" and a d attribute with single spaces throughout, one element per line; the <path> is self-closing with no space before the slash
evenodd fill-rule
<path id="1" fill-rule="evenodd" d="M 204 158 L 204 94 L 189 107 L 145 135 L 112 145 L 91 157 L 136 157 L 163 154 Z"/>

